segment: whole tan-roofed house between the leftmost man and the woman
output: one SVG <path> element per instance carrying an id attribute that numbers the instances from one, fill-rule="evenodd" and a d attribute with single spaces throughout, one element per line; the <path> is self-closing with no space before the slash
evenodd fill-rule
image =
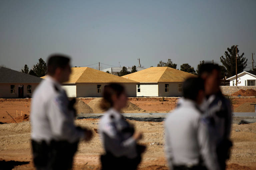
<path id="1" fill-rule="evenodd" d="M 102 97 L 104 87 L 109 83 L 122 84 L 129 97 L 136 97 L 136 81 L 89 67 L 72 67 L 71 71 L 69 81 L 62 84 L 68 97 Z"/>

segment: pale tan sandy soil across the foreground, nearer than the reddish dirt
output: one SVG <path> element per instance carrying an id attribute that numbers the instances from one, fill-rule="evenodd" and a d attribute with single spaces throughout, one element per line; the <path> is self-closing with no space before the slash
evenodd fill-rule
<path id="1" fill-rule="evenodd" d="M 98 119 L 76 120 L 76 124 L 90 129 L 98 128 Z M 164 156 L 163 122 L 129 121 L 143 132 L 140 144 L 147 146 L 139 169 L 168 169 Z M 236 132 L 235 129 L 240 131 Z M 94 131 L 94 130 L 93 130 Z M 90 142 L 80 142 L 74 159 L 74 169 L 100 169 L 99 155 L 103 153 L 99 134 L 95 131 Z M 233 124 L 231 139 L 234 142 L 232 155 L 228 161 L 229 170 L 256 168 L 256 124 Z M 0 125 L 0 160 L 29 161 L 29 164 L 15 166 L 14 169 L 34 169 L 30 147 L 29 122 Z"/>

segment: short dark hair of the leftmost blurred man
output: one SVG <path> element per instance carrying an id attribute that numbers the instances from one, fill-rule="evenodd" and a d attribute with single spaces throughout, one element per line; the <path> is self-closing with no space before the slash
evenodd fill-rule
<path id="1" fill-rule="evenodd" d="M 57 68 L 65 68 L 70 61 L 70 57 L 64 54 L 52 54 L 47 60 L 48 74 L 54 75 Z"/>

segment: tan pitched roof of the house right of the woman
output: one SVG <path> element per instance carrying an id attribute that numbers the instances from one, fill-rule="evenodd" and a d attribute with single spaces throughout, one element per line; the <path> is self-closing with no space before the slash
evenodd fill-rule
<path id="1" fill-rule="evenodd" d="M 183 82 L 188 77 L 196 75 L 180 71 L 171 67 L 150 67 L 145 70 L 127 74 L 122 77 L 137 82 Z"/>

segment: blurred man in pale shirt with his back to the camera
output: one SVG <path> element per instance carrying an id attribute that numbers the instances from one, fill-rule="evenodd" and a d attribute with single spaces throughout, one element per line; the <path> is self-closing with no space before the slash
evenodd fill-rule
<path id="1" fill-rule="evenodd" d="M 218 170 L 212 154 L 208 129 L 201 120 L 199 105 L 204 99 L 204 83 L 188 78 L 177 109 L 165 121 L 165 152 L 171 170 Z"/>

